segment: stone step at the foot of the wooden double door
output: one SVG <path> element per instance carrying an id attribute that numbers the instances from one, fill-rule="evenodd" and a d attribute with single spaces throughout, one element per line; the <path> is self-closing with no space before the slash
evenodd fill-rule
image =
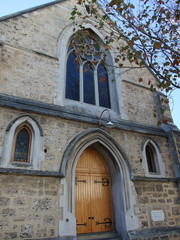
<path id="1" fill-rule="evenodd" d="M 79 234 L 78 240 L 119 240 L 116 232 Z"/>

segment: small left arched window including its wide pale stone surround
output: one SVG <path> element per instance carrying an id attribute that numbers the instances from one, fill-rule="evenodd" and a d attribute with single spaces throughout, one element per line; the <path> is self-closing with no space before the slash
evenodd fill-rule
<path id="1" fill-rule="evenodd" d="M 13 118 L 6 128 L 0 167 L 40 170 L 44 158 L 42 140 L 43 130 L 33 116 Z"/>

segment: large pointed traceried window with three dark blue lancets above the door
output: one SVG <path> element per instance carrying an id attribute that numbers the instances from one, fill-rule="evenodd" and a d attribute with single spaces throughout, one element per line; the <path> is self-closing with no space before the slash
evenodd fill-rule
<path id="1" fill-rule="evenodd" d="M 67 99 L 111 108 L 108 71 L 102 42 L 91 31 L 71 39 L 67 52 Z"/>

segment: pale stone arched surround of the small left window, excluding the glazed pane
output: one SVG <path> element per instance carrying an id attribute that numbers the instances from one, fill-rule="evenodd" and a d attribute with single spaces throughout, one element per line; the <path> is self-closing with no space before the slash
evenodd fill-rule
<path id="1" fill-rule="evenodd" d="M 32 134 L 30 163 L 13 163 L 11 162 L 11 154 L 14 144 L 14 136 L 16 130 L 23 125 L 27 125 Z M 43 130 L 38 121 L 29 114 L 22 114 L 12 119 L 7 128 L 4 137 L 4 146 L 2 151 L 2 162 L 0 163 L 3 168 L 28 168 L 33 170 L 40 170 L 40 162 L 43 157 L 42 151 L 42 137 Z"/>

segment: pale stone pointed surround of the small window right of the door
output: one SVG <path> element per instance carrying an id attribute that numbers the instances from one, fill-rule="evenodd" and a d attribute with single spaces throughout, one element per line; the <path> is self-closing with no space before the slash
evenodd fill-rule
<path id="1" fill-rule="evenodd" d="M 151 144 L 153 147 L 154 153 L 155 153 L 155 162 L 157 164 L 158 173 L 150 173 L 148 170 L 148 165 L 147 165 L 147 159 L 146 159 L 146 146 L 148 144 Z M 141 154 L 142 154 L 142 167 L 145 172 L 146 177 L 157 177 L 157 178 L 162 178 L 165 177 L 165 165 L 161 156 L 161 149 L 158 145 L 158 143 L 151 137 L 146 137 L 142 144 L 141 144 Z"/>

